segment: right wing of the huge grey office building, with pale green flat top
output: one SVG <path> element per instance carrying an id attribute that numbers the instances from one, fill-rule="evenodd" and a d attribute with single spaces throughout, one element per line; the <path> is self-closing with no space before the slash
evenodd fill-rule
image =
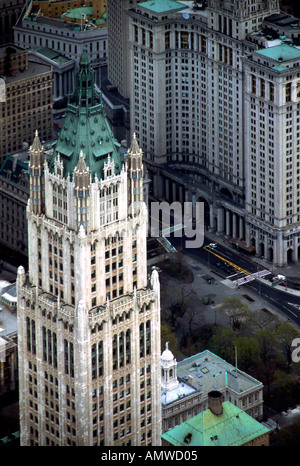
<path id="1" fill-rule="evenodd" d="M 244 70 L 249 240 L 276 263 L 300 260 L 300 50 L 258 50 Z"/>

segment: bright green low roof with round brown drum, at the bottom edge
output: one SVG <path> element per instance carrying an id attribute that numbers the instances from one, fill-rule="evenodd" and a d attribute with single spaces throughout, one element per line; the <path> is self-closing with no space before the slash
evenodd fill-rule
<path id="1" fill-rule="evenodd" d="M 260 422 L 225 401 L 220 416 L 206 409 L 165 432 L 162 438 L 174 446 L 241 446 L 268 432 Z"/>

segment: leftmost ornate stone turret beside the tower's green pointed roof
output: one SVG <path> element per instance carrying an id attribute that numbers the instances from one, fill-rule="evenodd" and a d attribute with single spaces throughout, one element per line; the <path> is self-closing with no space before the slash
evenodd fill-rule
<path id="1" fill-rule="evenodd" d="M 35 138 L 29 149 L 30 205 L 34 213 L 42 214 L 45 209 L 44 187 L 44 148 L 35 132 Z"/>

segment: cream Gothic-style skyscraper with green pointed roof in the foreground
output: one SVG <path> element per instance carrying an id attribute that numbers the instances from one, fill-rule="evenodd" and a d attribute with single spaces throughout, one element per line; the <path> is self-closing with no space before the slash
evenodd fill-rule
<path id="1" fill-rule="evenodd" d="M 22 445 L 159 445 L 160 291 L 147 277 L 142 151 L 126 159 L 84 52 L 44 163 L 30 147 L 18 270 Z"/>

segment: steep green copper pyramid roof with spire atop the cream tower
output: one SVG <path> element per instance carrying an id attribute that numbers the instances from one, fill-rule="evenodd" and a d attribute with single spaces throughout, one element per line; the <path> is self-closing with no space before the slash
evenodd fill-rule
<path id="1" fill-rule="evenodd" d="M 75 90 L 69 96 L 64 125 L 49 160 L 49 169 L 54 171 L 54 161 L 59 153 L 64 164 L 64 176 L 72 175 L 82 151 L 92 177 L 97 175 L 102 179 L 108 156 L 115 164 L 115 174 L 120 173 L 122 160 L 119 148 L 120 144 L 106 118 L 102 95 L 95 89 L 94 72 L 84 51 L 76 72 Z"/>

